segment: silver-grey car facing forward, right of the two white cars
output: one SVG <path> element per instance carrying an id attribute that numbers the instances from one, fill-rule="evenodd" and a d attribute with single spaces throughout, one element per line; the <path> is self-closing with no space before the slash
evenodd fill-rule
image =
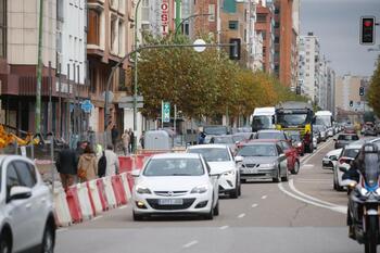
<path id="1" fill-rule="evenodd" d="M 244 144 L 236 156 L 240 165 L 240 178 L 288 180 L 288 160 L 281 147 L 271 140 L 258 140 Z"/>

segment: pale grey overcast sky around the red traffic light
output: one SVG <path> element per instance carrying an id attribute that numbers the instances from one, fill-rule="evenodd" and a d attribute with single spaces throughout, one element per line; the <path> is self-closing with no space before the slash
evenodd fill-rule
<path id="1" fill-rule="evenodd" d="M 376 45 L 359 43 L 359 21 L 375 15 L 380 23 L 380 0 L 301 0 L 301 35 L 313 31 L 319 38 L 321 52 L 337 75 L 371 76 L 380 51 L 380 26 Z"/>

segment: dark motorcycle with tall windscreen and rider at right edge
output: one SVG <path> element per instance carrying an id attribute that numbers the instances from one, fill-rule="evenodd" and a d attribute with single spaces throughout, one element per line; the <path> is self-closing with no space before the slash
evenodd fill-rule
<path id="1" fill-rule="evenodd" d="M 349 188 L 347 225 L 350 238 L 365 245 L 365 253 L 376 253 L 380 244 L 380 168 L 379 153 L 373 144 L 362 149 L 358 165 L 358 181 L 351 181 Z"/>

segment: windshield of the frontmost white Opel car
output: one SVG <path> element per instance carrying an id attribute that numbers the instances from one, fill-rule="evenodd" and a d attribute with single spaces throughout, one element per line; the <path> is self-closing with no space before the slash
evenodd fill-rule
<path id="1" fill-rule="evenodd" d="M 201 176 L 204 168 L 200 159 L 153 159 L 143 175 L 147 177 L 161 176 Z"/>

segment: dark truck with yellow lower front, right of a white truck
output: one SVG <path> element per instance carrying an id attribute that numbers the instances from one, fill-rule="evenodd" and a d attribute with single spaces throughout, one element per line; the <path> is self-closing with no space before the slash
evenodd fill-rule
<path id="1" fill-rule="evenodd" d="M 276 129 L 299 131 L 308 153 L 314 151 L 313 122 L 313 106 L 306 102 L 287 101 L 276 105 Z"/>

